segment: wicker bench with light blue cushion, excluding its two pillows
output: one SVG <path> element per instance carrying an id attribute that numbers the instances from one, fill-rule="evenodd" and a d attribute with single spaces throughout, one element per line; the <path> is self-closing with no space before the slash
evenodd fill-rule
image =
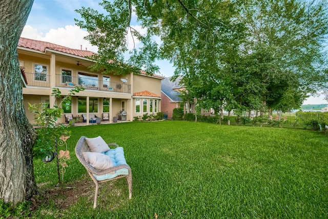
<path id="1" fill-rule="evenodd" d="M 95 208 L 97 204 L 99 183 L 116 180 L 118 178 L 126 177 L 129 187 L 129 199 L 132 198 L 132 173 L 130 166 L 126 163 L 123 148 L 119 147 L 117 144 L 108 144 L 108 146 L 115 146 L 116 148 L 110 149 L 109 151 L 106 151 L 103 154 L 109 156 L 115 166 L 100 171 L 91 166 L 91 164 L 89 164 L 89 162 L 87 162 L 85 159 L 83 153 L 91 152 L 85 136 L 80 137 L 75 147 L 76 157 L 81 162 L 81 164 L 87 169 L 89 175 L 91 176 L 93 182 L 96 185 L 93 208 Z"/>

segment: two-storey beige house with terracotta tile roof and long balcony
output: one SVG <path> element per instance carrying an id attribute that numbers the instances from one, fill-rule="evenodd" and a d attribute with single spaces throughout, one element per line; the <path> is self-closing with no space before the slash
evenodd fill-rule
<path id="1" fill-rule="evenodd" d="M 32 124 L 35 123 L 34 114 L 29 112 L 28 103 L 48 103 L 52 107 L 52 88 L 59 88 L 62 95 L 67 95 L 75 86 L 85 88 L 62 108 L 80 120 L 82 115 L 87 116 L 87 124 L 89 118 L 101 118 L 103 112 L 109 112 L 112 123 L 113 117 L 133 121 L 134 116 L 161 111 L 162 76 L 150 76 L 142 71 L 124 76 L 94 72 L 88 68 L 94 64 L 87 58 L 94 54 L 91 51 L 22 37 L 17 52 L 24 82 L 24 107 Z M 126 116 L 120 116 L 120 111 L 126 111 Z M 64 116 L 59 122 L 65 122 Z"/>

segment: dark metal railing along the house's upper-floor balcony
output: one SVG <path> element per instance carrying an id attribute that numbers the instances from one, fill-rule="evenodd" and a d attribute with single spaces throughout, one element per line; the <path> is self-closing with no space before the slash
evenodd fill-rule
<path id="1" fill-rule="evenodd" d="M 36 74 L 25 72 L 27 86 L 50 87 L 49 74 Z M 131 85 L 125 83 L 101 81 L 87 77 L 75 77 L 70 75 L 56 74 L 55 86 L 74 88 L 76 86 L 84 87 L 86 90 L 101 90 L 119 93 L 131 93 Z"/>

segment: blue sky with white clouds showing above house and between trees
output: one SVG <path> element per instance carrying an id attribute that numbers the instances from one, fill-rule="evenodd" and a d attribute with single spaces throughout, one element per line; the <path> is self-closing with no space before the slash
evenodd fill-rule
<path id="1" fill-rule="evenodd" d="M 74 10 L 84 6 L 104 12 L 103 8 L 98 5 L 99 2 L 101 1 L 34 0 L 22 37 L 46 41 L 73 49 L 80 49 L 82 45 L 83 49 L 87 48 L 90 51 L 97 52 L 97 48 L 83 38 L 88 35 L 88 32 L 75 25 L 74 18 L 80 19 L 80 16 Z M 141 32 L 145 31 L 136 23 L 136 16 L 133 16 L 131 24 L 134 25 L 135 29 Z M 160 75 L 165 77 L 173 75 L 175 68 L 169 61 L 157 61 L 156 64 L 160 68 Z M 307 98 L 303 104 L 328 104 L 328 102 L 324 100 L 324 95 L 320 95 Z"/>

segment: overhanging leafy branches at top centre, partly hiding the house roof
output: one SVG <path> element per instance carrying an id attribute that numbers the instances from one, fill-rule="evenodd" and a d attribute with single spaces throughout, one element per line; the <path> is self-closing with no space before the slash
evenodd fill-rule
<path id="1" fill-rule="evenodd" d="M 236 12 L 230 1 L 116 0 L 103 1 L 100 5 L 107 14 L 81 8 L 77 12 L 83 20 L 76 19 L 76 24 L 88 30 L 86 38 L 99 48 L 98 55 L 92 57 L 96 62 L 94 68 L 124 69 L 115 70 L 116 73 L 139 69 L 156 73 L 158 67 L 153 64 L 156 58 L 170 59 L 177 68 L 176 73 L 182 75 L 188 71 L 195 73 L 206 65 L 215 67 L 223 42 L 239 36 L 240 32 L 231 19 Z M 134 12 L 147 30 L 145 35 L 131 25 Z M 127 35 L 133 35 L 143 46 L 134 47 L 128 65 L 122 65 L 124 53 L 128 51 Z M 157 45 L 154 36 L 160 37 L 161 45 Z"/>

